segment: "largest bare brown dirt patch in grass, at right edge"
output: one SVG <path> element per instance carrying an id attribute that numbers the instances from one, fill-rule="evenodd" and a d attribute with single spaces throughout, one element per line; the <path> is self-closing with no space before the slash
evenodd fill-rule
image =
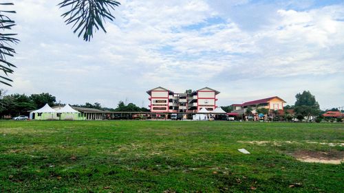
<path id="1" fill-rule="evenodd" d="M 341 164 L 344 160 L 343 151 L 297 151 L 292 153 L 297 160 L 308 162 L 308 163 L 330 163 L 330 164 Z"/>

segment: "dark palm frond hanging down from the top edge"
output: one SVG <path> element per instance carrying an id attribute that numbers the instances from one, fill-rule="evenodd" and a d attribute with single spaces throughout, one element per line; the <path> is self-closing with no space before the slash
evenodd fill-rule
<path id="1" fill-rule="evenodd" d="M 72 24 L 73 32 L 78 33 L 78 37 L 83 35 L 84 41 L 90 41 L 94 31 L 101 28 L 107 32 L 103 22 L 115 19 L 111 10 L 115 10 L 120 3 L 114 0 L 63 0 L 58 5 L 60 8 L 70 7 L 61 15 L 65 23 Z"/>

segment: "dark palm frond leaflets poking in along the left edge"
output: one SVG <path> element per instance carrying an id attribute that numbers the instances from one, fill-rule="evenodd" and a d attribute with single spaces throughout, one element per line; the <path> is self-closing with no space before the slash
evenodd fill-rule
<path id="1" fill-rule="evenodd" d="M 13 3 L 0 3 L 2 5 L 13 5 Z M 5 73 L 5 76 L 0 76 L 0 84 L 6 84 L 11 87 L 10 82 L 13 82 L 8 78 L 8 73 L 13 73 L 15 65 L 6 60 L 6 56 L 13 57 L 16 53 L 11 47 L 14 43 L 18 43 L 19 40 L 13 36 L 17 34 L 8 33 L 8 30 L 12 30 L 15 22 L 6 16 L 6 13 L 15 13 L 15 11 L 0 10 L 0 71 Z"/>

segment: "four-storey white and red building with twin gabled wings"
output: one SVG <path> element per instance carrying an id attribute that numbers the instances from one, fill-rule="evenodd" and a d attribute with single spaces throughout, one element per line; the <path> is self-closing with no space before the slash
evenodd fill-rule
<path id="1" fill-rule="evenodd" d="M 219 91 L 204 87 L 191 93 L 174 93 L 168 89 L 157 87 L 147 91 L 150 95 L 151 112 L 156 113 L 197 113 L 205 108 L 213 111 L 216 106 L 216 95 Z"/>

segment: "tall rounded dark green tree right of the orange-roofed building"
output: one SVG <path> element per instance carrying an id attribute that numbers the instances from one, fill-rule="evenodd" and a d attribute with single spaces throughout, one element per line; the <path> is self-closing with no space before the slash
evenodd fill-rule
<path id="1" fill-rule="evenodd" d="M 303 93 L 297 93 L 295 95 L 297 101 L 295 102 L 295 113 L 297 119 L 300 117 L 307 117 L 307 121 L 310 120 L 310 116 L 319 115 L 319 103 L 316 102 L 315 96 L 310 91 L 303 91 Z M 300 120 L 300 119 L 299 119 Z"/>

